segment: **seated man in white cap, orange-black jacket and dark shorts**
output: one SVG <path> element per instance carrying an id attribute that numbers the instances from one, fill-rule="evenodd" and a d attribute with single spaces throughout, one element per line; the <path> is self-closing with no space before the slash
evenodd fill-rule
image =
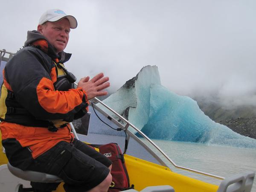
<path id="1" fill-rule="evenodd" d="M 23 49 L 6 64 L 0 97 L 0 130 L 12 166 L 58 175 L 67 192 L 107 192 L 111 161 L 74 139 L 68 122 L 87 113 L 88 100 L 106 95 L 108 77 L 76 81 L 63 63 L 63 50 L 76 18 L 58 9 L 45 12 L 37 31 L 29 31 Z M 36 192 L 50 192 L 59 183 L 34 183 Z"/>

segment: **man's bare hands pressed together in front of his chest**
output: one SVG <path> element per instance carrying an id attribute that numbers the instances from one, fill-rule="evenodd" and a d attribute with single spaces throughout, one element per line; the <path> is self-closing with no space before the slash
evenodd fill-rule
<path id="1" fill-rule="evenodd" d="M 109 78 L 104 77 L 103 73 L 99 73 L 89 81 L 90 77 L 80 79 L 78 87 L 81 87 L 87 93 L 87 99 L 92 99 L 96 96 L 107 95 L 107 91 L 102 91 L 110 86 Z"/>

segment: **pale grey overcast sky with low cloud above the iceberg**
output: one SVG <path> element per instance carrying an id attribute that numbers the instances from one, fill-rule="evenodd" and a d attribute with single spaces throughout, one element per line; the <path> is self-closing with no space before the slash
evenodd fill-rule
<path id="1" fill-rule="evenodd" d="M 104 72 L 117 90 L 157 65 L 178 94 L 256 105 L 255 0 L 1 0 L 0 49 L 16 52 L 55 8 L 78 20 L 65 49 L 78 79 Z"/>

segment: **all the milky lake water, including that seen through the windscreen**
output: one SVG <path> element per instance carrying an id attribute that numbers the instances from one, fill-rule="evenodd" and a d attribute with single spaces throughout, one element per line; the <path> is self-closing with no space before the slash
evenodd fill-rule
<path id="1" fill-rule="evenodd" d="M 102 134 L 79 135 L 79 139 L 89 143 L 118 143 L 124 148 L 125 137 Z M 144 141 L 144 139 L 142 139 Z M 256 149 L 236 148 L 229 146 L 205 145 L 201 143 L 174 142 L 153 140 L 178 166 L 207 172 L 212 175 L 229 177 L 246 171 L 256 172 Z M 149 144 L 147 144 L 149 146 Z M 150 147 L 151 148 L 151 147 Z M 127 154 L 156 163 L 147 151 L 130 139 Z M 182 169 L 177 169 L 171 163 L 167 165 L 172 171 L 195 179 L 219 185 L 221 180 L 198 175 Z M 256 179 L 251 192 L 256 192 Z"/>

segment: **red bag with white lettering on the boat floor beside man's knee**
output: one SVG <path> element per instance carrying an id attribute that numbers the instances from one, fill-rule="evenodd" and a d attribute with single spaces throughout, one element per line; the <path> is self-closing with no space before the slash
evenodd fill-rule
<path id="1" fill-rule="evenodd" d="M 134 189 L 134 185 L 130 187 L 128 172 L 125 166 L 124 155 L 116 143 L 108 143 L 99 147 L 99 152 L 104 154 L 112 161 L 112 183 L 108 192 L 119 192 L 128 189 Z"/>

